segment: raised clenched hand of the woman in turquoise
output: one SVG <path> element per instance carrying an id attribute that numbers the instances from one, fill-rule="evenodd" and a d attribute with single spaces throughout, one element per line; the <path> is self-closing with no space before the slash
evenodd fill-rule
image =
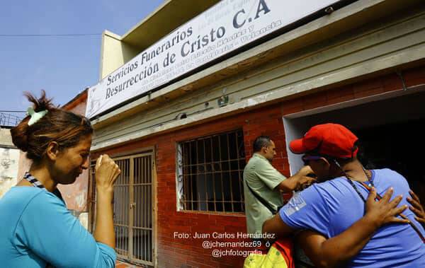
<path id="1" fill-rule="evenodd" d="M 107 154 L 99 156 L 95 167 L 96 188 L 97 190 L 105 190 L 113 192 L 113 185 L 121 170 L 115 161 Z"/>

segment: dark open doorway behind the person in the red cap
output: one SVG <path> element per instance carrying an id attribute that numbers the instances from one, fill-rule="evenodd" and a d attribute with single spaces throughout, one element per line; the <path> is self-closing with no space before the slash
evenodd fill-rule
<path id="1" fill-rule="evenodd" d="M 407 94 L 409 93 L 409 94 Z M 344 105 L 324 107 L 283 118 L 286 143 L 300 138 L 315 124 L 343 124 L 361 141 L 368 168 L 390 168 L 406 177 L 425 204 L 425 92 L 405 91 L 404 95 L 382 95 Z M 288 150 L 291 173 L 301 166 L 300 156 Z M 366 163 L 363 163 L 365 165 Z"/>

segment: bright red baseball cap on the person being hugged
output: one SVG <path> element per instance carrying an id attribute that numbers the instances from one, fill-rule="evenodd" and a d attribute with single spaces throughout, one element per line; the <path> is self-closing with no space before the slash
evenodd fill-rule
<path id="1" fill-rule="evenodd" d="M 289 144 L 293 153 L 314 152 L 336 158 L 353 158 L 357 155 L 357 136 L 341 124 L 317 124 L 302 139 Z"/>

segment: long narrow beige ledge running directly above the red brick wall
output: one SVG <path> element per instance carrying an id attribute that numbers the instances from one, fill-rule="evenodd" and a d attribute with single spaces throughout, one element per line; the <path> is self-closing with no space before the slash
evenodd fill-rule
<path id="1" fill-rule="evenodd" d="M 207 112 L 203 112 L 198 115 L 193 115 L 182 120 L 176 120 L 174 122 L 162 124 L 157 127 L 151 127 L 149 129 L 142 129 L 136 133 L 127 134 L 100 143 L 96 143 L 95 141 L 94 144 L 91 146 L 91 151 L 98 151 L 104 148 L 117 146 L 118 144 L 123 144 L 125 142 L 132 141 L 135 139 L 145 138 L 153 134 L 159 134 L 163 132 L 174 131 L 176 129 L 181 129 L 183 127 L 189 127 L 192 125 L 207 122 L 209 120 L 215 120 L 217 118 L 224 117 L 229 114 L 245 112 L 246 110 L 261 107 L 261 105 L 276 103 L 285 98 L 288 98 L 289 96 L 300 95 L 312 89 L 323 88 L 324 86 L 340 83 L 342 81 L 356 78 L 358 76 L 367 76 L 378 71 L 394 68 L 395 66 L 409 64 L 410 62 L 415 62 L 416 60 L 423 59 L 424 55 L 425 44 L 421 44 L 414 47 L 414 49 L 409 49 L 408 51 L 401 51 L 396 54 L 387 55 L 386 57 L 382 57 L 380 59 L 369 60 L 363 62 L 362 64 L 350 66 L 346 69 L 341 69 L 340 71 L 328 75 L 321 74 L 320 76 L 316 76 L 305 82 L 297 83 L 294 86 L 276 88 L 276 90 L 271 91 L 269 93 L 258 95 L 253 98 L 246 98 L 245 100 L 241 100 L 238 103 L 209 110 Z"/>

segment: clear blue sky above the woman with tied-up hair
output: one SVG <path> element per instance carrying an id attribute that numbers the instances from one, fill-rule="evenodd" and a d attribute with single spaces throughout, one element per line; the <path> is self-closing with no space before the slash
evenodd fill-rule
<path id="1" fill-rule="evenodd" d="M 123 35 L 164 0 L 2 1 L 0 8 L 0 110 L 26 110 L 23 91 L 45 89 L 64 105 L 98 81 L 101 35 L 3 37 L 102 33 Z"/>

